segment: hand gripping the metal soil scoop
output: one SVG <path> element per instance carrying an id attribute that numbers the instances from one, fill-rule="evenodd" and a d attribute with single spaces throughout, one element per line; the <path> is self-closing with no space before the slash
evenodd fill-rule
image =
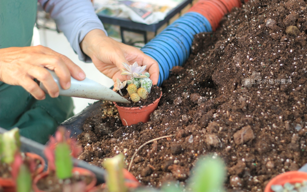
<path id="1" fill-rule="evenodd" d="M 41 45 L 34 47 L 10 47 L 0 49 L 0 81 L 20 85 L 36 99 L 45 99 L 45 92 L 33 81 L 44 84 L 51 97 L 59 96 L 59 87 L 49 70 L 54 70 L 64 89 L 70 88 L 70 77 L 82 81 L 84 71 L 68 57 Z"/>

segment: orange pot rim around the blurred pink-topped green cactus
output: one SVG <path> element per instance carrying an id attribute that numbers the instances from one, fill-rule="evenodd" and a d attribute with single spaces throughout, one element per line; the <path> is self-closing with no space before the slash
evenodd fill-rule
<path id="1" fill-rule="evenodd" d="M 96 179 L 96 175 L 93 172 L 91 172 L 91 171 L 89 171 L 87 169 L 84 169 L 84 168 L 79 168 L 79 167 L 74 167 L 72 169 L 72 172 L 79 172 L 80 175 L 91 176 L 93 178 L 91 183 L 86 186 L 86 188 L 85 188 L 86 192 L 90 191 L 96 185 L 97 179 Z M 34 192 L 45 192 L 43 190 L 38 189 L 37 182 L 40 179 L 47 177 L 48 174 L 49 174 L 49 172 L 46 171 L 46 172 L 41 173 L 40 175 L 37 175 L 34 178 L 33 186 L 32 186 Z M 80 192 L 82 192 L 82 191 L 80 191 Z"/>

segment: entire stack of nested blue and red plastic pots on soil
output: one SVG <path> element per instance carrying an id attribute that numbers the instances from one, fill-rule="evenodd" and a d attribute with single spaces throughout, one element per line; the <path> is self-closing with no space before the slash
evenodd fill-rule
<path id="1" fill-rule="evenodd" d="M 247 0 L 245 0 L 247 2 Z M 194 35 L 215 31 L 220 19 L 241 0 L 199 0 L 188 13 L 159 33 L 142 51 L 159 63 L 158 86 L 169 77 L 174 66 L 181 66 L 190 55 Z"/>

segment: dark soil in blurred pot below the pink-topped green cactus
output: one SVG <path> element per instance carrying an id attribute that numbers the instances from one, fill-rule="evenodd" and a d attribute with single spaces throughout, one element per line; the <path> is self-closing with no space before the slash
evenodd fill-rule
<path id="1" fill-rule="evenodd" d="M 85 175 L 75 174 L 70 179 L 58 179 L 54 172 L 50 173 L 47 177 L 40 179 L 37 182 L 38 189 L 46 192 L 62 192 L 64 185 L 72 185 L 78 182 L 85 182 L 86 185 L 90 184 L 92 177 Z M 68 190 L 70 191 L 70 190 Z M 80 190 L 80 192 L 82 192 Z"/>

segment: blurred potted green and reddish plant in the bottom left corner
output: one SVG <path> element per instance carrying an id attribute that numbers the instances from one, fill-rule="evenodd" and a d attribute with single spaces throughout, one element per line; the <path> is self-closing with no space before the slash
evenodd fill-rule
<path id="1" fill-rule="evenodd" d="M 31 187 L 27 186 L 31 186 L 32 178 L 45 167 L 41 156 L 20 152 L 19 138 L 18 128 L 0 134 L 0 186 L 5 192 L 29 191 Z"/>

